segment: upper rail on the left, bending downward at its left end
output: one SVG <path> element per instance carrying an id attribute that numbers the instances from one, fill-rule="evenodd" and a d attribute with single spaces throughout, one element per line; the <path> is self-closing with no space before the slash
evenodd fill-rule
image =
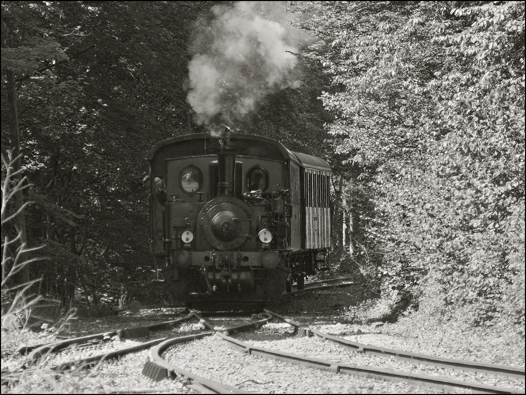
<path id="1" fill-rule="evenodd" d="M 122 339 L 130 339 L 134 337 L 144 337 L 144 336 L 148 336 L 150 331 L 170 328 L 180 322 L 188 321 L 193 318 L 196 318 L 195 315 L 190 314 L 183 318 L 155 323 L 153 325 L 148 325 L 145 327 L 132 328 L 132 329 L 119 329 L 113 332 L 97 333 L 96 335 L 88 335 L 88 336 L 82 336 L 82 337 L 73 338 L 73 339 L 60 340 L 60 341 L 56 341 L 52 343 L 44 343 L 43 345 L 24 346 L 24 347 L 19 348 L 17 351 L 20 353 L 24 353 L 23 352 L 24 350 L 26 351 L 32 350 L 31 352 L 29 352 L 28 356 L 26 357 L 25 363 L 27 364 L 28 367 L 33 367 L 35 366 L 37 359 L 42 358 L 42 356 L 44 356 L 45 354 L 57 353 L 74 344 L 79 344 L 79 343 L 83 343 L 86 341 L 93 341 L 93 340 L 105 341 L 105 340 L 111 339 L 114 336 L 118 336 L 119 338 L 122 338 Z"/>

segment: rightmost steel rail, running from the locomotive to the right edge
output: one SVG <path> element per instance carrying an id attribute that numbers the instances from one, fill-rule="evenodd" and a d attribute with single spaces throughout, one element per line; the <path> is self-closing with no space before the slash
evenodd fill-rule
<path id="1" fill-rule="evenodd" d="M 460 359 L 450 359 L 443 357 L 434 357 L 430 355 L 419 354 L 415 352 L 407 352 L 401 350 L 393 350 L 383 347 L 368 346 L 354 341 L 342 339 L 337 336 L 327 335 L 317 329 L 311 329 L 307 326 L 300 324 L 299 322 L 280 316 L 279 314 L 270 310 L 265 310 L 271 316 L 274 316 L 282 321 L 287 322 L 296 328 L 296 331 L 301 330 L 303 335 L 312 336 L 316 335 L 324 340 L 336 343 L 339 346 L 349 348 L 352 351 L 361 352 L 366 355 L 382 356 L 382 357 L 394 357 L 396 359 L 419 363 L 426 366 L 436 366 L 439 368 L 447 368 L 462 372 L 473 372 L 479 374 L 491 374 L 499 377 L 507 377 L 510 379 L 518 379 L 524 381 L 524 369 L 515 368 L 511 366 L 503 366 L 490 363 L 471 362 Z"/>

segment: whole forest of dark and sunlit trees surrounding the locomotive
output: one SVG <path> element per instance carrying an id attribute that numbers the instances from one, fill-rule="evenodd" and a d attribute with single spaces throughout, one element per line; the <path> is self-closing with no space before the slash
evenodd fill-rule
<path id="1" fill-rule="evenodd" d="M 206 78 L 191 65 L 235 15 L 235 35 L 272 23 L 290 56 L 220 121 L 331 165 L 331 274 L 524 335 L 524 2 L 248 3 L 2 2 L 2 302 L 29 279 L 65 303 L 161 302 L 141 288 L 155 278 L 145 157 L 217 121 L 196 112 Z M 258 73 L 245 64 L 216 89 L 235 96 Z M 24 237 L 42 248 L 4 281 L 17 138 Z"/>

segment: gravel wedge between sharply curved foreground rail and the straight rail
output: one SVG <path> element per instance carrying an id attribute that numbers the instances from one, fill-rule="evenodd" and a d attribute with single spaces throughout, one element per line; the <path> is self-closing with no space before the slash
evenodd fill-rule
<path id="1" fill-rule="evenodd" d="M 198 376 L 257 393 L 432 393 L 406 383 L 357 378 L 248 356 L 216 336 L 171 347 L 163 358 Z"/>

